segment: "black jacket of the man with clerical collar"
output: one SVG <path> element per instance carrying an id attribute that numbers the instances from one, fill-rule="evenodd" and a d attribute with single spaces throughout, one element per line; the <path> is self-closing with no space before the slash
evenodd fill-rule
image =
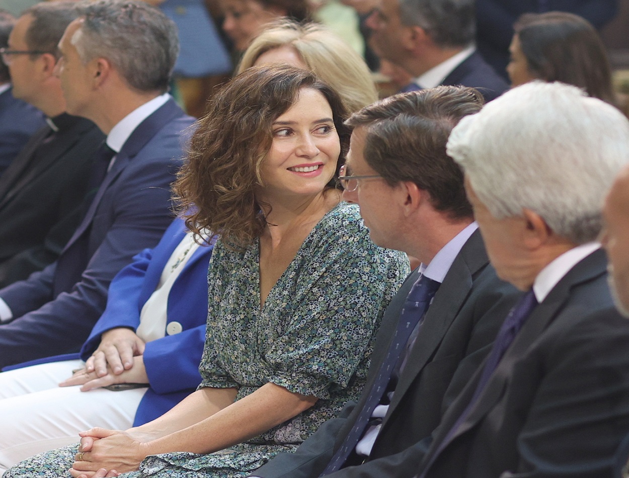
<path id="1" fill-rule="evenodd" d="M 52 264 L 85 213 L 92 157 L 105 136 L 78 116 L 57 123 L 53 139 L 33 135 L 0 178 L 0 287 Z"/>

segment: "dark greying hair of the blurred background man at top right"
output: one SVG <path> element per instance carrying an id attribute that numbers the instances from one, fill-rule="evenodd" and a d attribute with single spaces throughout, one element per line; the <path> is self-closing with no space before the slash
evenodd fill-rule
<path id="1" fill-rule="evenodd" d="M 421 26 L 438 47 L 467 47 L 476 36 L 475 0 L 399 0 L 403 25 Z"/>

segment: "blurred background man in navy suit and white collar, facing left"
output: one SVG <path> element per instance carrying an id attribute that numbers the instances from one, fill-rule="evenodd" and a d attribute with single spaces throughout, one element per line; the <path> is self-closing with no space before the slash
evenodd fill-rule
<path id="1" fill-rule="evenodd" d="M 471 86 L 486 101 L 509 87 L 474 48 L 474 0 L 380 0 L 367 25 L 377 55 L 408 71 L 417 87 Z"/>

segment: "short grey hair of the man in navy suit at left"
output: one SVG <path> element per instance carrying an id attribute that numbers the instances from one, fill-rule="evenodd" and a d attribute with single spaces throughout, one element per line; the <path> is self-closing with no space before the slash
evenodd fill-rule
<path id="1" fill-rule="evenodd" d="M 83 18 L 71 38 L 82 62 L 107 58 L 130 87 L 168 90 L 179 40 L 164 13 L 139 0 L 98 0 L 84 4 Z"/>

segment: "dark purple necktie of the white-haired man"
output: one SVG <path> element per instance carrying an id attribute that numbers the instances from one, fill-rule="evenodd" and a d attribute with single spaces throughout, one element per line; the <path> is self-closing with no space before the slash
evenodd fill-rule
<path id="1" fill-rule="evenodd" d="M 485 389 L 487 382 L 489 382 L 491 374 L 493 374 L 494 370 L 496 370 L 496 367 L 498 367 L 498 364 L 500 362 L 500 359 L 503 357 L 504 352 L 507 351 L 509 345 L 511 345 L 511 343 L 515 339 L 515 336 L 518 335 L 518 332 L 524 325 L 526 319 L 536 306 L 537 299 L 535 298 L 535 293 L 533 292 L 533 289 L 531 289 L 530 291 L 526 292 L 526 294 L 524 294 L 520 298 L 520 301 L 515 304 L 513 309 L 511 309 L 509 315 L 504 320 L 500 331 L 498 332 L 498 336 L 496 336 L 496 340 L 494 341 L 494 345 L 491 348 L 491 352 L 489 352 L 489 357 L 487 357 L 487 361 L 485 362 L 485 365 L 482 369 L 481 378 L 479 379 L 478 385 L 476 386 L 476 390 L 474 390 L 474 395 L 472 395 L 472 398 L 470 399 L 469 404 L 467 404 L 467 407 L 465 407 L 463 413 L 460 414 L 457 421 L 455 421 L 454 426 L 450 428 L 448 434 L 445 436 L 445 438 L 443 438 L 442 442 L 437 448 L 437 451 L 433 453 L 424 471 L 421 473 L 420 478 L 425 477 L 426 470 L 428 470 L 433 462 L 435 462 L 435 459 L 437 459 L 439 453 L 441 453 L 443 448 L 445 448 L 450 442 L 450 438 L 454 436 L 456 431 L 459 430 L 459 426 L 461 426 L 467 416 L 469 416 L 470 411 L 472 411 L 472 408 L 474 408 L 474 404 L 476 404 L 478 397 L 481 396 L 481 393 Z"/>

